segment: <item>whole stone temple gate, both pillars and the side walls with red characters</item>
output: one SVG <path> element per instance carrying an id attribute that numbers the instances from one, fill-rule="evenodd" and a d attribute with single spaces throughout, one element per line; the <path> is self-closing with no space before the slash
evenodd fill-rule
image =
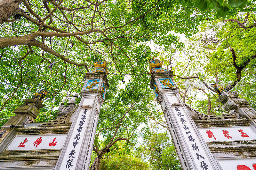
<path id="1" fill-rule="evenodd" d="M 150 60 L 151 82 L 161 104 L 183 170 L 256 170 L 256 112 L 236 92 L 218 101 L 227 114 L 204 115 L 184 104 L 172 71 Z M 77 94 L 61 103 L 56 120 L 36 123 L 42 102 L 26 99 L 0 129 L 1 170 L 89 169 L 95 132 L 108 89 L 106 61 L 85 73 L 81 101 Z M 43 89 L 44 91 L 44 89 Z M 42 92 L 43 92 L 42 91 Z"/>

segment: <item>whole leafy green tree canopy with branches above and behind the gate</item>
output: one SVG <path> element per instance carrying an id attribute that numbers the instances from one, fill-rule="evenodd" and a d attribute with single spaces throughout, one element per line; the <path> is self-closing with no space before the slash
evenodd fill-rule
<path id="1" fill-rule="evenodd" d="M 106 59 L 109 89 L 91 169 L 121 163 L 180 169 L 148 86 L 148 61 L 164 61 L 183 102 L 204 114 L 224 113 L 213 82 L 255 108 L 255 6 L 255 0 L 1 1 L 0 123 L 42 88 L 50 94 L 36 120 L 56 119 L 63 98 L 80 92 L 84 73 Z"/>

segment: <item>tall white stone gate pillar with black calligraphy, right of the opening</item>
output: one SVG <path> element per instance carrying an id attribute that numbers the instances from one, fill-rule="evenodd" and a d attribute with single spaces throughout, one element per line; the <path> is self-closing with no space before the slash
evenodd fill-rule
<path id="1" fill-rule="evenodd" d="M 159 60 L 150 61 L 150 88 L 161 104 L 172 141 L 183 170 L 222 170 L 182 102 L 172 71 L 162 69 Z"/>

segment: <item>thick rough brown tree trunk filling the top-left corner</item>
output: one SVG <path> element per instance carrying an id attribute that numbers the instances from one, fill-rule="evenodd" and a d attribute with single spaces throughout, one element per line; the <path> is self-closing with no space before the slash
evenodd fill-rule
<path id="1" fill-rule="evenodd" d="M 0 0 L 0 25 L 10 18 L 23 0 Z"/>

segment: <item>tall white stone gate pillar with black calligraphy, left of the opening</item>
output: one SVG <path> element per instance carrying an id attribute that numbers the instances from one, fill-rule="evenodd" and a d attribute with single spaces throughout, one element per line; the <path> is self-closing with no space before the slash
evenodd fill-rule
<path id="1" fill-rule="evenodd" d="M 106 61 L 96 64 L 91 73 L 85 73 L 82 98 L 54 170 L 89 169 L 100 106 L 108 89 Z"/>

